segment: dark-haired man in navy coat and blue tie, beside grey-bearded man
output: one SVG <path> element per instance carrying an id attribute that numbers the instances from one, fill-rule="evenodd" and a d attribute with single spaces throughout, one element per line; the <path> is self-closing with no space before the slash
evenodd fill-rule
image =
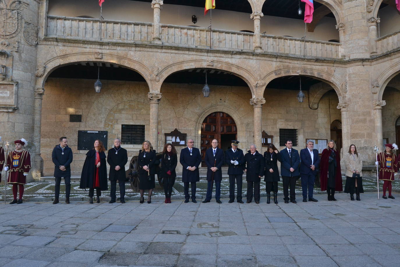
<path id="1" fill-rule="evenodd" d="M 292 140 L 286 140 L 286 148 L 280 151 L 282 161 L 280 164 L 280 175 L 282 175 L 283 184 L 283 200 L 289 203 L 289 186 L 290 186 L 290 202 L 296 202 L 296 180 L 299 176 L 300 156 L 296 149 L 293 149 Z"/>

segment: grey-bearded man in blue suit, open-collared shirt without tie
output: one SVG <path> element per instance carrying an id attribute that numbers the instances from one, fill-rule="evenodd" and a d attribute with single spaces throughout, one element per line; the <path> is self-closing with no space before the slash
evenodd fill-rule
<path id="1" fill-rule="evenodd" d="M 318 202 L 312 197 L 314 193 L 314 182 L 316 169 L 320 165 L 320 158 L 318 157 L 318 150 L 314 149 L 314 141 L 307 141 L 307 148 L 300 151 L 300 177 L 301 187 L 303 190 L 303 202 L 307 202 L 307 189 L 308 201 Z"/>

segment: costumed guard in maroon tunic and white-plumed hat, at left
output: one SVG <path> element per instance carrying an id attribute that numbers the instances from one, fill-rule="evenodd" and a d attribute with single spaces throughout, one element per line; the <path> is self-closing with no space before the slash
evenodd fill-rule
<path id="1" fill-rule="evenodd" d="M 30 154 L 28 151 L 24 150 L 23 146 L 28 143 L 25 139 L 14 141 L 15 150 L 8 153 L 7 165 L 4 168 L 5 171 L 10 170 L 8 175 L 7 183 L 12 185 L 12 195 L 14 195 L 14 200 L 10 204 L 21 204 L 22 196 L 24 195 L 24 185 L 26 184 L 26 175 L 28 175 L 30 170 Z M 11 165 L 11 167 L 10 167 Z M 20 198 L 17 201 L 18 187 L 20 188 Z"/>

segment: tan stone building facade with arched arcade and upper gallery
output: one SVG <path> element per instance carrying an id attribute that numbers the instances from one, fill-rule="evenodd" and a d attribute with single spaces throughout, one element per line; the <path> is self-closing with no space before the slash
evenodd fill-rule
<path id="1" fill-rule="evenodd" d="M 136 12 L 150 18 L 122 21 L 129 20 L 124 17 L 126 12 L 121 16 L 110 12 L 101 30 L 100 20 L 88 18 L 99 9 L 97 1 L 80 2 L 70 1 L 63 11 L 64 1 L 0 0 L 2 13 L 12 18 L 0 21 L 0 65 L 4 66 L 0 131 L 3 140 L 24 137 L 30 141 L 27 149 L 32 154 L 33 178 L 52 175 L 51 151 L 62 135 L 70 139 L 76 160 L 72 169 L 79 173 L 86 151 L 77 149 L 78 130 L 107 131 L 111 147 L 112 139 L 120 137 L 122 124 L 143 124 L 145 139 L 160 151 L 164 134 L 177 128 L 200 147 L 202 122 L 213 112 L 233 118 L 242 149 L 254 143 L 260 152 L 265 150 L 263 131 L 279 145 L 280 129 L 297 129 L 296 148 L 302 149 L 305 139 L 331 139 L 334 121 L 341 122 L 343 151 L 355 144 L 364 155 L 364 165 L 374 161 L 374 145 L 382 149 L 383 139 L 396 141 L 400 15 L 390 3 L 382 8 L 382 0 L 320 0 L 322 7 L 314 13 L 314 24 L 306 27 L 308 38 L 302 39 L 296 31 L 287 34 L 293 37 L 279 33 L 291 24 L 304 28 L 302 20 L 279 18 L 280 25 L 269 30 L 262 12 L 266 2 L 248 0 L 252 10 L 248 19 L 243 12 L 226 11 L 226 21 L 216 20 L 222 30 L 213 30 L 210 48 L 204 18 L 199 22 L 202 27 L 189 27 L 174 16 L 176 6 L 162 0 L 113 0 L 114 9 L 129 10 L 137 4 L 132 10 L 140 7 Z M 178 8 L 187 14 L 202 10 Z M 324 16 L 326 10 L 334 19 Z M 240 21 L 242 17 L 242 23 L 235 23 L 246 28 L 234 28 L 236 24 L 229 19 Z M 254 33 L 239 31 L 249 25 Z M 331 31 L 333 27 L 337 32 Z M 96 93 L 96 77 L 51 76 L 58 68 L 82 62 L 118 65 L 137 72 L 144 81 L 102 80 L 102 91 Z M 199 69 L 233 74 L 247 86 L 213 86 L 210 97 L 204 98 L 202 84 L 164 82 L 177 72 Z M 320 82 L 306 88 L 306 100 L 300 103 L 298 90 L 268 86 L 290 76 Z M 70 122 L 70 114 L 81 114 L 82 122 Z M 124 147 L 132 156 L 141 146 Z"/>

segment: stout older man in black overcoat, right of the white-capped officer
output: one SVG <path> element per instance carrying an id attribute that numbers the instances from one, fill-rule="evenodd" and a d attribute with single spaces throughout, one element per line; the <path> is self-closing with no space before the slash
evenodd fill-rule
<path id="1" fill-rule="evenodd" d="M 256 145 L 250 145 L 250 150 L 244 155 L 244 171 L 246 172 L 247 180 L 247 201 L 250 203 L 253 200 L 253 188 L 254 188 L 254 201 L 256 204 L 260 203 L 260 181 L 261 177 L 264 176 L 264 157 L 256 150 Z"/>

